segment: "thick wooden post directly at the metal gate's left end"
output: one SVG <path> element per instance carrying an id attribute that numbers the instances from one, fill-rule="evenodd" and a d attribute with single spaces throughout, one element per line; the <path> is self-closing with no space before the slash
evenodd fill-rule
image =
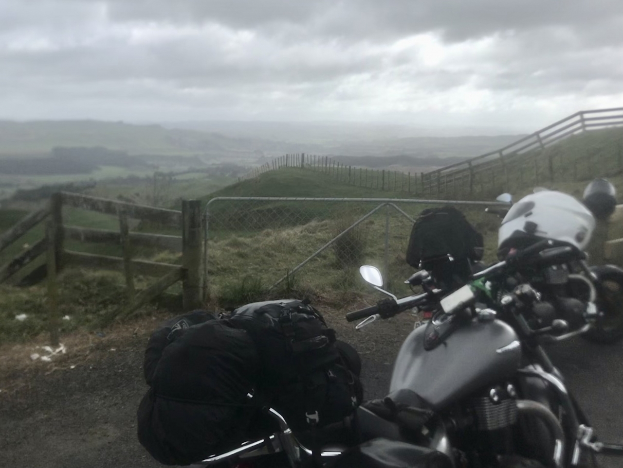
<path id="1" fill-rule="evenodd" d="M 182 201 L 183 308 L 201 307 L 201 202 Z"/>

